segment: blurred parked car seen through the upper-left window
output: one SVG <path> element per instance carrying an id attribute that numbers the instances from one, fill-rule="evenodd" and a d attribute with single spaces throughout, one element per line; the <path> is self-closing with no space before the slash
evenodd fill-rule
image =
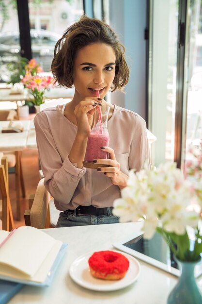
<path id="1" fill-rule="evenodd" d="M 31 30 L 32 58 L 44 69 L 50 71 L 56 42 L 61 38 L 60 34 L 47 30 Z M 7 68 L 10 62 L 16 62 L 20 54 L 19 32 L 5 32 L 0 34 L 0 82 L 10 80 L 11 71 Z"/>

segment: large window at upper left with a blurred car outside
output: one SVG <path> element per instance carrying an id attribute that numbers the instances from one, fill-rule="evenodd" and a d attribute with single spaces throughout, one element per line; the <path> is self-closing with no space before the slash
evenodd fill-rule
<path id="1" fill-rule="evenodd" d="M 17 10 L 9 3 L 7 1 L 8 19 L 1 20 L 3 15 L 0 12 L 0 82 L 9 81 L 7 63 L 17 61 L 16 55 L 20 54 Z M 83 1 L 30 0 L 29 15 L 32 58 L 48 72 L 56 42 L 67 27 L 83 15 Z M 17 31 L 14 32 L 14 29 Z"/>

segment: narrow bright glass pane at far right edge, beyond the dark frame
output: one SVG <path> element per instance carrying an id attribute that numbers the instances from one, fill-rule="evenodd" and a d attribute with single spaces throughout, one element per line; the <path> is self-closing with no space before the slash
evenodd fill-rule
<path id="1" fill-rule="evenodd" d="M 185 61 L 186 140 L 199 146 L 202 141 L 202 1 L 189 0 L 187 14 L 187 44 Z M 188 153 L 184 158 L 190 157 Z"/>

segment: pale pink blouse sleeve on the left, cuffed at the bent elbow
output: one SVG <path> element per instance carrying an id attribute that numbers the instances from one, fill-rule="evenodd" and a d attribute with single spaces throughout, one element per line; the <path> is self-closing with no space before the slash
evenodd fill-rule
<path id="1" fill-rule="evenodd" d="M 44 185 L 54 198 L 56 207 L 60 210 L 63 205 L 62 210 L 64 210 L 64 205 L 70 202 L 86 169 L 79 169 L 77 164 L 72 164 L 68 154 L 62 162 L 44 117 L 40 114 L 36 115 L 34 125 L 40 164 L 45 177 Z"/>

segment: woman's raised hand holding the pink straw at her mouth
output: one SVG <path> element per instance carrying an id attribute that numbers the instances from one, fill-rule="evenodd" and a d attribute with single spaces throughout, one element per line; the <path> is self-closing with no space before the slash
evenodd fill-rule
<path id="1" fill-rule="evenodd" d="M 100 102 L 100 101 L 99 101 Z M 78 133 L 89 135 L 93 124 L 93 114 L 95 107 L 98 105 L 96 97 L 86 97 L 76 105 L 74 114 L 77 119 Z"/>

